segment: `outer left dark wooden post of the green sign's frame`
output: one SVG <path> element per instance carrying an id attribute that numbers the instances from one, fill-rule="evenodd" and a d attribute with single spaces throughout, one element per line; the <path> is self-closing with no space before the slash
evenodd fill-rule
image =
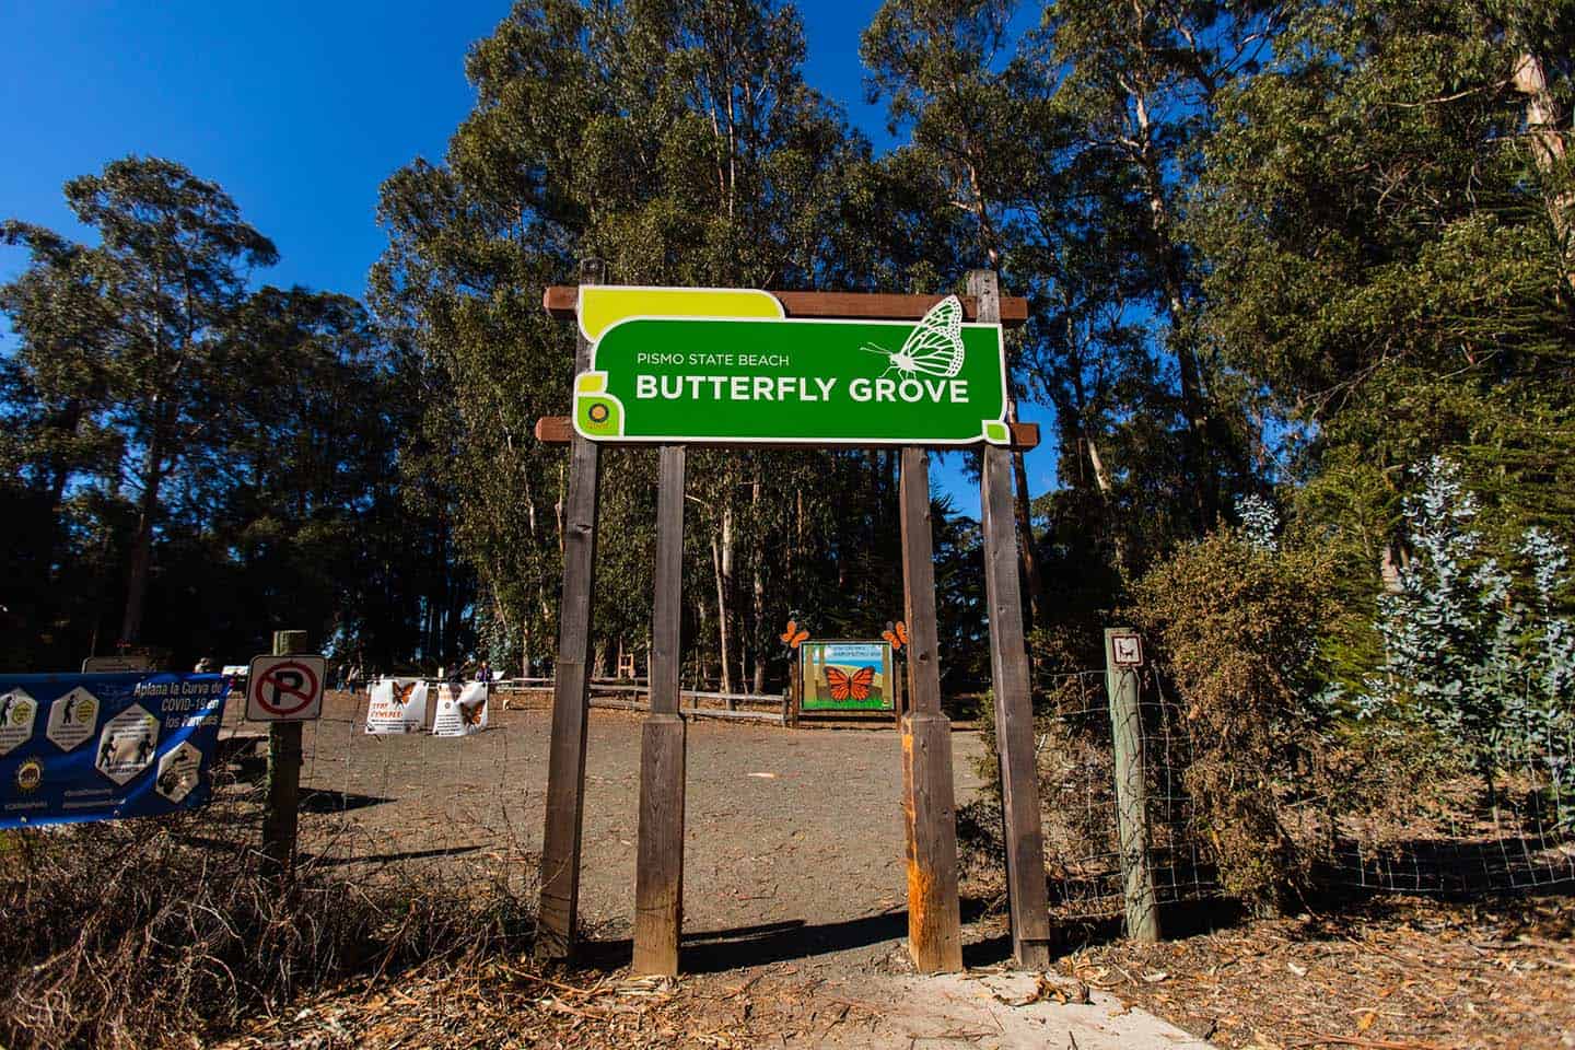
<path id="1" fill-rule="evenodd" d="M 598 261 L 580 264 L 581 283 L 600 280 Z M 591 343 L 576 331 L 575 375 L 589 367 Z M 569 491 L 564 494 L 564 590 L 558 608 L 553 737 L 547 760 L 542 902 L 536 922 L 539 959 L 565 959 L 573 952 L 580 911 L 580 831 L 584 817 L 586 718 L 591 710 L 591 593 L 600 482 L 600 449 L 576 436 L 569 446 Z"/>

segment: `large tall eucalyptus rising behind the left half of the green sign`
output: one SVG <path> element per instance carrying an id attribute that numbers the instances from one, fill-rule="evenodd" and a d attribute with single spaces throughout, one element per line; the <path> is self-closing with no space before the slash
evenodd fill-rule
<path id="1" fill-rule="evenodd" d="M 529 653 L 556 616 L 564 482 L 561 450 L 531 428 L 567 411 L 572 370 L 570 326 L 543 316 L 542 287 L 573 282 L 584 257 L 619 283 L 847 277 L 838 257 L 857 239 L 850 187 L 868 186 L 868 145 L 805 85 L 802 61 L 786 5 L 517 3 L 471 49 L 477 101 L 446 162 L 384 184 L 391 246 L 373 299 L 422 376 L 427 452 L 408 463 L 454 501 L 460 549 Z M 814 485 L 810 461 L 833 458 L 690 458 L 699 548 L 687 565 L 704 575 L 685 590 L 726 685 L 769 649 L 764 595 L 784 559 L 765 523 Z M 638 642 L 649 616 L 652 464 L 635 452 L 605 463 L 597 622 L 613 645 Z"/>

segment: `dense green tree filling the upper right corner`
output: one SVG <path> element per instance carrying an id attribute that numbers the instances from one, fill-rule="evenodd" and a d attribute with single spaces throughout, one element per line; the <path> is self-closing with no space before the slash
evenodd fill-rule
<path id="1" fill-rule="evenodd" d="M 1219 96 L 1203 323 L 1301 438 L 1299 504 L 1350 549 L 1351 606 L 1380 564 L 1397 586 L 1403 471 L 1432 455 L 1501 510 L 1499 554 L 1575 518 L 1569 165 L 1547 123 L 1572 27 L 1567 0 L 1304 3 Z"/>

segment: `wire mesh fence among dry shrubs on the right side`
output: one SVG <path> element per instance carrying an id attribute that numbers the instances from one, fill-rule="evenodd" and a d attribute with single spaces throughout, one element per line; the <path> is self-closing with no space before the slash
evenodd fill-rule
<path id="1" fill-rule="evenodd" d="M 1036 757 L 1052 911 L 1077 919 L 1120 915 L 1123 872 L 1106 672 L 1047 674 L 1038 685 Z M 1219 896 L 1210 831 L 1184 786 L 1194 757 L 1188 721 L 1151 667 L 1140 672 L 1139 696 L 1156 900 Z M 1536 724 L 1523 730 L 1506 724 L 1492 759 L 1474 763 L 1479 768 L 1391 771 L 1388 797 L 1359 806 L 1348 800 L 1336 806 L 1328 795 L 1295 798 L 1295 790 L 1287 790 L 1285 823 L 1314 858 L 1318 883 L 1436 896 L 1575 886 L 1575 820 L 1567 786 L 1559 790 L 1558 784 L 1575 746 L 1569 734 L 1548 734 L 1545 713 L 1529 702 L 1506 708 L 1507 718 Z M 1480 768 L 1493 771 L 1492 787 Z"/>

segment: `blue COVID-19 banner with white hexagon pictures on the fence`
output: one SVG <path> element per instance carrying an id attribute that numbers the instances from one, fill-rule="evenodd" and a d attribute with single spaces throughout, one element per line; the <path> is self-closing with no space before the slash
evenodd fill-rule
<path id="1" fill-rule="evenodd" d="M 203 806 L 228 691 L 217 674 L 0 675 L 0 828 Z"/>

